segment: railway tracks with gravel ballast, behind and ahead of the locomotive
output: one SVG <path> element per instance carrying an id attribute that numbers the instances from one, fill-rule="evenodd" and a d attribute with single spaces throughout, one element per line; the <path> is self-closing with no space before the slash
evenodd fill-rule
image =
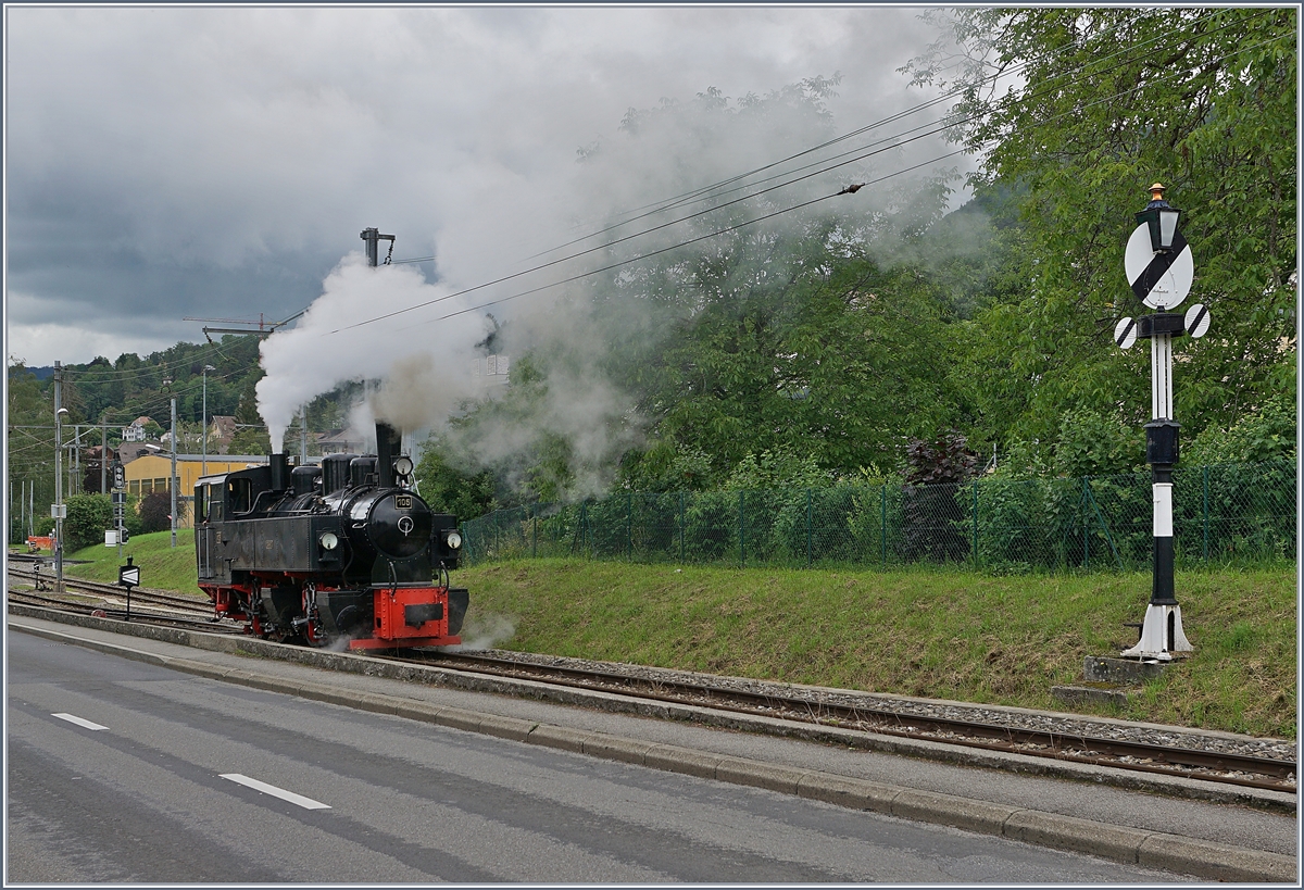
<path id="1" fill-rule="evenodd" d="M 10 569 L 10 574 L 21 577 Z M 65 579 L 67 586 L 73 583 Z M 113 596 L 116 585 L 74 582 L 87 592 Z M 140 591 L 132 594 L 133 600 Z M 121 617 L 123 609 L 70 602 L 39 591 L 9 590 L 12 602 L 61 608 L 106 617 Z M 233 624 L 200 621 L 186 612 L 209 608 L 197 600 L 156 594 L 172 613 L 137 611 L 132 620 L 186 626 L 211 633 L 243 633 Z M 198 607 L 198 609 L 196 609 Z M 177 613 L 177 612 L 181 613 Z M 1103 723 L 1073 715 L 1022 713 L 981 705 L 941 703 L 854 692 L 793 686 L 737 677 L 683 673 L 629 664 L 591 663 L 520 652 L 438 652 L 406 650 L 373 656 L 437 666 L 443 669 L 526 679 L 558 686 L 618 693 L 649 701 L 692 705 L 720 711 L 797 720 L 858 729 L 876 735 L 941 741 L 952 745 L 1046 757 L 1077 763 L 1204 779 L 1251 788 L 1296 792 L 1295 745 L 1279 740 L 1230 740 L 1210 733 L 1157 732 L 1121 722 Z M 1121 727 L 1121 728 L 1120 728 Z M 1244 748 L 1254 750 L 1247 752 Z"/>

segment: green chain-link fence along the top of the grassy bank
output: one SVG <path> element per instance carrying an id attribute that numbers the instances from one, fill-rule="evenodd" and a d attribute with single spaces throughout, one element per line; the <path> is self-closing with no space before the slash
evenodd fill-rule
<path id="1" fill-rule="evenodd" d="M 1294 461 L 1176 470 L 1179 565 L 1294 561 L 1295 480 Z M 621 492 L 498 510 L 462 530 L 472 564 L 583 556 L 742 566 L 1142 569 L 1154 542 L 1149 472 L 962 485 Z"/>

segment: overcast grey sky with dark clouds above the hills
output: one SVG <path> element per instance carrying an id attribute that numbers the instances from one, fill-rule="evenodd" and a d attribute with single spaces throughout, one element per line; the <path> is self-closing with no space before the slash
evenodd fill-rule
<path id="1" fill-rule="evenodd" d="M 629 108 L 840 72 L 846 132 L 927 98 L 897 72 L 921 12 L 7 7 L 7 354 L 287 317 L 369 226 L 472 286 L 567 240 L 544 221 L 576 150 Z"/>

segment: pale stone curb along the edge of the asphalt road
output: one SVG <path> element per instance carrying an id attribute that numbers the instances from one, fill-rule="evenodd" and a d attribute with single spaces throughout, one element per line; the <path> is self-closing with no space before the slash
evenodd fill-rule
<path id="1" fill-rule="evenodd" d="M 44 609 L 42 609 L 43 612 Z M 16 607 L 10 606 L 10 612 Z M 31 615 L 42 617 L 44 615 Z M 76 616 L 81 617 L 81 616 Z M 402 716 L 468 732 L 557 748 L 623 763 L 636 763 L 669 773 L 764 788 L 823 803 L 850 806 L 935 825 L 948 825 L 978 834 L 1004 836 L 1055 850 L 1081 852 L 1114 861 L 1180 872 L 1215 881 L 1297 882 L 1294 856 L 1230 847 L 1179 835 L 1080 820 L 1059 813 L 1022 809 L 931 791 L 917 791 L 841 776 L 818 770 L 767 763 L 743 757 L 709 754 L 674 745 L 627 739 L 601 732 L 576 731 L 480 714 L 459 707 L 437 707 L 377 693 L 343 692 L 327 684 L 296 683 L 256 669 L 228 669 L 193 659 L 171 658 L 129 646 L 86 639 L 74 634 L 9 622 L 14 630 L 72 643 L 106 654 L 158 664 L 226 683 L 280 692 L 346 707 Z M 185 633 L 185 632 L 181 632 Z M 141 634 L 146 636 L 146 634 Z M 173 641 L 166 641 L 173 642 Z M 244 643 L 259 641 L 241 641 Z M 181 643 L 185 645 L 185 643 Z M 216 647 L 214 647 L 216 649 Z M 306 650 L 312 654 L 317 650 Z M 379 659 L 378 666 L 390 664 Z M 406 666 L 394 666 L 406 667 Z M 373 673 L 373 671 L 363 671 Z M 374 671 L 383 675 L 382 671 Z"/>

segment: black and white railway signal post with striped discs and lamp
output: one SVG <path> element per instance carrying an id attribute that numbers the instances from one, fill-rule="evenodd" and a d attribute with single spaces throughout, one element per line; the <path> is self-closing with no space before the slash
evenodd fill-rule
<path id="1" fill-rule="evenodd" d="M 1136 214 L 1141 224 L 1128 239 L 1123 260 L 1132 292 L 1155 312 L 1123 318 L 1114 329 L 1114 341 L 1124 350 L 1137 338 L 1150 341 L 1151 420 L 1145 425 L 1145 450 L 1154 492 L 1154 582 L 1141 639 L 1123 655 L 1171 660 L 1172 652 L 1191 651 L 1172 583 L 1172 467 L 1178 463 L 1181 428 L 1172 416 L 1172 338 L 1204 337 L 1209 330 L 1209 311 L 1194 305 L 1185 316 L 1168 312 L 1191 292 L 1194 261 L 1191 245 L 1178 230 L 1181 211 L 1163 200 L 1163 192 L 1158 183 L 1150 187 L 1150 204 Z"/>

